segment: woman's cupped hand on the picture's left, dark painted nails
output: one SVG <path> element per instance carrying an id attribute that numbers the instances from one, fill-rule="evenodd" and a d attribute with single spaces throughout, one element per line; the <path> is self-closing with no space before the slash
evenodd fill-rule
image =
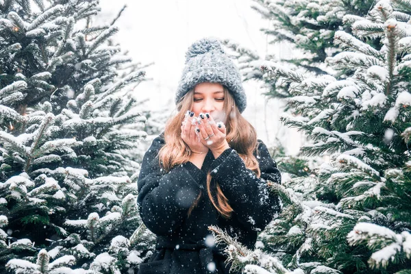
<path id="1" fill-rule="evenodd" d="M 196 132 L 196 127 L 197 127 L 197 117 L 194 116 L 194 112 L 188 111 L 186 113 L 186 117 L 182 123 L 182 139 L 188 147 L 190 147 L 190 150 L 194 153 L 208 153 L 208 147 L 203 145 L 203 143 L 200 141 L 199 132 Z"/>

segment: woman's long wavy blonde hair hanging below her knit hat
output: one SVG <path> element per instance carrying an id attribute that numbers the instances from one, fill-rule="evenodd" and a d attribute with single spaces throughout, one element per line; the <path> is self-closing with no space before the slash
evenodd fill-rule
<path id="1" fill-rule="evenodd" d="M 234 98 L 229 93 L 227 88 L 223 86 L 224 90 L 224 106 L 223 111 L 227 115 L 226 127 L 226 140 L 232 149 L 235 149 L 240 155 L 240 158 L 245 162 L 247 169 L 251 169 L 256 173 L 257 177 L 260 177 L 260 168 L 258 161 L 253 155 L 253 151 L 257 147 L 257 134 L 256 129 L 241 116 Z M 164 141 L 165 145 L 160 149 L 158 158 L 160 165 L 163 166 L 164 171 L 169 172 L 173 166 L 188 162 L 190 159 L 190 148 L 181 138 L 181 123 L 184 120 L 184 114 L 187 110 L 191 110 L 194 97 L 194 88 L 184 95 L 183 99 L 177 104 L 177 114 L 171 117 L 164 129 Z M 207 174 L 207 192 L 210 201 L 216 208 L 216 210 L 225 219 L 229 219 L 234 211 L 229 206 L 228 199 L 223 194 L 218 183 L 215 187 L 211 187 L 212 176 L 210 172 Z M 212 197 L 212 191 L 216 192 L 216 201 Z M 197 206 L 201 192 L 199 196 L 192 203 L 192 206 L 188 210 L 188 216 L 190 216 L 192 210 Z"/>

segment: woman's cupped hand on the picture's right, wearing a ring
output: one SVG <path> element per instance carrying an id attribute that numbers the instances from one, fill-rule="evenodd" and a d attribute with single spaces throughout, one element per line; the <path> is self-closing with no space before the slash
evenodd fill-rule
<path id="1" fill-rule="evenodd" d="M 216 123 L 209 113 L 200 113 L 201 121 L 199 123 L 201 143 L 208 147 L 214 157 L 220 155 L 229 148 L 227 140 L 225 140 L 226 132 L 224 123 Z"/>

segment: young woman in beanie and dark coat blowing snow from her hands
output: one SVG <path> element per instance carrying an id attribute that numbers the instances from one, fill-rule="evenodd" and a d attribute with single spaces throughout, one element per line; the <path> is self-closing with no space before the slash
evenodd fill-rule
<path id="1" fill-rule="evenodd" d="M 249 249 L 279 212 L 267 182 L 281 182 L 277 165 L 242 116 L 240 74 L 218 40 L 195 42 L 176 95 L 177 114 L 142 160 L 138 207 L 158 236 L 138 274 L 229 273 L 209 225 Z"/>

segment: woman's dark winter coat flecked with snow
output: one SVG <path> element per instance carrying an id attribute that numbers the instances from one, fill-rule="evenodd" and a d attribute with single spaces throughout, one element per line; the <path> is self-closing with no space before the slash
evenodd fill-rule
<path id="1" fill-rule="evenodd" d="M 206 245 L 205 239 L 211 235 L 209 225 L 226 230 L 249 249 L 255 248 L 258 232 L 279 211 L 279 197 L 269 194 L 266 180 L 281 182 L 277 164 L 266 145 L 258 142 L 258 154 L 254 151 L 254 155 L 260 164 L 260 178 L 245 167 L 234 149 L 225 150 L 216 159 L 209 151 L 201 169 L 186 162 L 166 173 L 158 161 L 163 134 L 153 140 L 138 177 L 138 207 L 143 223 L 158 240 L 155 252 L 148 262 L 140 264 L 138 274 L 229 273 L 230 264 L 225 266 L 221 245 Z M 234 210 L 230 219 L 220 216 L 208 197 L 208 171 Z M 188 216 L 200 191 L 201 199 Z"/>

